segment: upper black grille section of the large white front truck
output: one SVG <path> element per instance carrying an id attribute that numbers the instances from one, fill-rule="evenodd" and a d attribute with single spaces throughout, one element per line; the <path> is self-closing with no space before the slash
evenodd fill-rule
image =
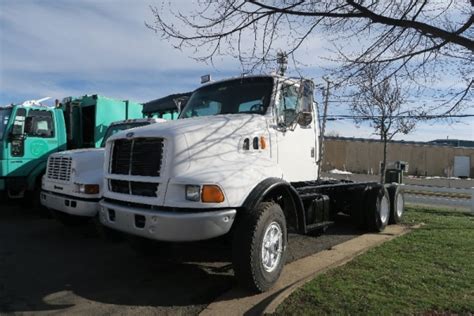
<path id="1" fill-rule="evenodd" d="M 163 138 L 119 139 L 114 142 L 110 172 L 159 177 Z"/>

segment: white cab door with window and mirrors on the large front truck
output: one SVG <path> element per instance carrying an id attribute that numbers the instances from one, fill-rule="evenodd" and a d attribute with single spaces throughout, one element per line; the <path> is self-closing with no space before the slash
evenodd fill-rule
<path id="1" fill-rule="evenodd" d="M 299 83 L 283 81 L 276 99 L 278 165 L 283 179 L 288 182 L 318 177 L 318 122 L 312 105 L 313 91 L 311 88 L 304 90 L 300 90 Z"/>

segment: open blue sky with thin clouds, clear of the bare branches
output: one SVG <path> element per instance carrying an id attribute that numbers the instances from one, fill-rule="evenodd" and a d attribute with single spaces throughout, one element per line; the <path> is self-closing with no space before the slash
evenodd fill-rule
<path id="1" fill-rule="evenodd" d="M 189 7 L 190 1 L 175 1 Z M 180 52 L 148 30 L 153 0 L 0 0 L 0 105 L 98 93 L 140 102 L 193 90 L 199 77 L 238 75 L 237 60 L 219 58 L 214 67 L 197 63 L 192 52 Z M 305 76 L 321 81 L 321 60 L 327 54 L 316 40 L 300 56 Z M 318 101 L 321 96 L 317 95 Z M 347 103 L 331 104 L 329 114 L 346 112 Z M 472 110 L 474 112 L 474 109 Z M 352 121 L 329 122 L 341 136 L 375 137 L 368 126 Z M 459 123 L 420 124 L 397 139 L 474 139 L 472 118 Z"/>

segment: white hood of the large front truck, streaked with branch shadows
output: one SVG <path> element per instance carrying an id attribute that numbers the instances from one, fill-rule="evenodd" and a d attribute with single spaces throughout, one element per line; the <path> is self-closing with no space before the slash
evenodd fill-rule
<path id="1" fill-rule="evenodd" d="M 254 150 L 253 140 L 260 140 L 262 136 L 266 139 L 267 147 Z M 165 139 L 164 177 L 206 170 L 211 172 L 216 168 L 258 168 L 268 165 L 272 156 L 267 119 L 258 114 L 227 114 L 168 121 L 134 129 L 133 135 L 129 137 Z M 114 135 L 109 140 L 119 138 Z M 245 140 L 249 141 L 250 150 L 243 149 Z"/>

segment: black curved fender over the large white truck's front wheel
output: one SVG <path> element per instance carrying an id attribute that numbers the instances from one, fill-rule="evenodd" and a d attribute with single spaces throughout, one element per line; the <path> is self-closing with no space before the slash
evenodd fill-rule
<path id="1" fill-rule="evenodd" d="M 291 198 L 293 209 L 295 210 L 295 223 L 298 231 L 303 231 L 306 227 L 306 219 L 304 216 L 303 203 L 296 192 L 295 188 L 288 182 L 280 178 L 267 178 L 257 184 L 250 194 L 245 199 L 242 207 L 246 211 L 252 211 L 255 207 L 262 202 L 266 196 L 271 194 L 274 190 L 282 189 Z"/>

